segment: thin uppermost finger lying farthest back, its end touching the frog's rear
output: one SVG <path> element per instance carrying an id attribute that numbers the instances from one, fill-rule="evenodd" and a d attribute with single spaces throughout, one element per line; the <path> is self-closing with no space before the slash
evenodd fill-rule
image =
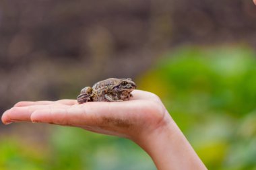
<path id="1" fill-rule="evenodd" d="M 54 103 L 61 103 L 64 105 L 73 105 L 76 104 L 77 101 L 75 99 L 61 99 L 57 101 L 20 101 L 15 103 L 14 107 L 23 107 L 28 105 L 49 105 Z"/>

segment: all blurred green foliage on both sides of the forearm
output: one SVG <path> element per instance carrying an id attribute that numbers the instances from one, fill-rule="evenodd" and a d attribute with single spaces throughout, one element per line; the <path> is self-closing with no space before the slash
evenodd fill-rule
<path id="1" fill-rule="evenodd" d="M 209 169 L 256 169 L 256 58 L 246 46 L 187 46 L 137 79 L 163 100 Z M 133 142 L 57 127 L 47 147 L 0 141 L 0 169 L 156 169 Z"/>

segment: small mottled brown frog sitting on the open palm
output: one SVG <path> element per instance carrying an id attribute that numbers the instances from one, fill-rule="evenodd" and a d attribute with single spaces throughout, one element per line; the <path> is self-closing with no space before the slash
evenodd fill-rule
<path id="1" fill-rule="evenodd" d="M 90 101 L 127 101 L 133 95 L 131 91 L 136 84 L 131 80 L 109 78 L 98 81 L 92 87 L 84 87 L 77 96 L 77 103 L 82 104 Z"/>

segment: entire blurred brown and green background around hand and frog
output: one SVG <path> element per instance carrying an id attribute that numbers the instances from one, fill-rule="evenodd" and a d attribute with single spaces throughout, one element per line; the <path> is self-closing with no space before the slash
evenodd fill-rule
<path id="1" fill-rule="evenodd" d="M 0 1 L 1 113 L 108 77 L 159 95 L 209 169 L 256 169 L 252 1 Z M 156 167 L 123 138 L 20 123 L 0 125 L 0 169 Z"/>

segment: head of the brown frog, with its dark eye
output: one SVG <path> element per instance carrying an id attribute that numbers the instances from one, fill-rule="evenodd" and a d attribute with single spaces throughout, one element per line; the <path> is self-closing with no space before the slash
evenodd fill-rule
<path id="1" fill-rule="evenodd" d="M 127 79 L 119 79 L 117 84 L 113 87 L 114 91 L 133 91 L 136 88 L 136 84 L 131 80 L 131 78 Z"/>

